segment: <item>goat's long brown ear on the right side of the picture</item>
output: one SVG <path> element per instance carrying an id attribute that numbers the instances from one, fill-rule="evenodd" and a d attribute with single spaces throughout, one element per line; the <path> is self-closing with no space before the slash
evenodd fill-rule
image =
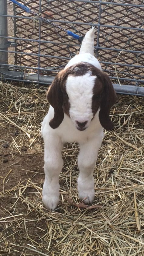
<path id="1" fill-rule="evenodd" d="M 113 122 L 110 120 L 109 112 L 111 107 L 115 104 L 117 96 L 113 85 L 108 75 L 103 74 L 104 91 L 101 99 L 99 120 L 101 125 L 110 131 L 114 128 Z"/>

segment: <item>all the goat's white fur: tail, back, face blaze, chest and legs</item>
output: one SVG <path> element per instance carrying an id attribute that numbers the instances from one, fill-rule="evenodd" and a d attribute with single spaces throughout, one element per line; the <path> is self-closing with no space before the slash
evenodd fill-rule
<path id="1" fill-rule="evenodd" d="M 92 45 L 94 45 L 91 42 L 93 39 L 94 30 L 92 29 L 85 35 L 80 54 L 72 58 L 66 68 L 84 61 L 101 70 L 98 60 L 91 55 Z M 87 43 L 89 43 L 90 47 Z M 91 107 L 95 78 L 96 76 L 92 76 L 91 72 L 87 72 L 83 76 L 68 76 L 66 91 L 70 101 L 70 117 L 64 114 L 63 121 L 59 127 L 52 129 L 49 122 L 54 116 L 54 109 L 50 106 L 49 112 L 43 120 L 41 134 L 45 146 L 44 170 L 46 174 L 43 185 L 43 203 L 47 209 L 55 209 L 59 202 L 60 185 L 58 177 L 63 166 L 61 151 L 65 142 L 77 141 L 80 145 L 78 156 L 80 175 L 77 181 L 79 198 L 86 203 L 92 203 L 94 200 L 93 171 L 97 160 L 98 149 L 104 136 L 103 128 L 98 117 L 99 110 L 91 121 L 93 117 Z M 86 129 L 79 131 L 76 121 L 87 121 Z"/>

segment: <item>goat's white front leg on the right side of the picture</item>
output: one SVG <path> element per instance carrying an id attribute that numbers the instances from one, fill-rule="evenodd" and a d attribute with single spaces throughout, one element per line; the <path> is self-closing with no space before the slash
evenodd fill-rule
<path id="1" fill-rule="evenodd" d="M 94 200 L 94 177 L 93 171 L 97 160 L 98 150 L 103 139 L 101 136 L 88 140 L 80 144 L 80 153 L 78 156 L 78 167 L 80 174 L 77 180 L 79 199 L 84 203 L 92 203 Z"/>

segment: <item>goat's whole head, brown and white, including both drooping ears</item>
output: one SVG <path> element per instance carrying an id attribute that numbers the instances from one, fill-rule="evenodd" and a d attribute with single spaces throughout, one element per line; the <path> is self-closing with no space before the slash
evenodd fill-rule
<path id="1" fill-rule="evenodd" d="M 108 75 L 87 62 L 80 62 L 61 71 L 50 86 L 47 98 L 54 108 L 50 126 L 57 128 L 64 113 L 75 127 L 85 130 L 100 108 L 99 120 L 106 130 L 113 128 L 109 111 L 117 97 Z"/>

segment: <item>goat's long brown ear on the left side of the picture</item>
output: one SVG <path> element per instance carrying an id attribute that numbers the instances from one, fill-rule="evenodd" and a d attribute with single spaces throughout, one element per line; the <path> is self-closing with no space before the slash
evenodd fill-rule
<path id="1" fill-rule="evenodd" d="M 60 74 L 58 74 L 47 92 L 47 99 L 54 108 L 54 117 L 50 120 L 50 127 L 55 129 L 63 121 L 63 93 L 60 88 Z"/>

